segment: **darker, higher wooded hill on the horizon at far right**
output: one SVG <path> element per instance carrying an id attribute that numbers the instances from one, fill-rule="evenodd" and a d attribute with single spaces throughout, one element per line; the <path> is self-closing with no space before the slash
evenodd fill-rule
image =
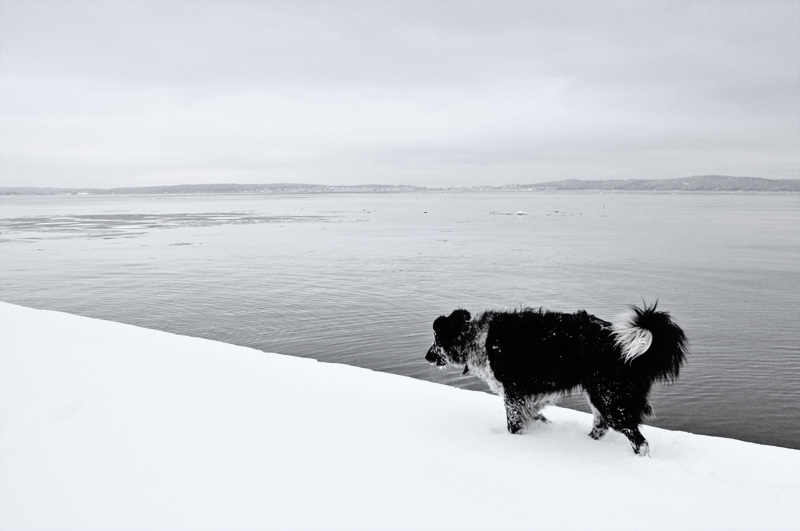
<path id="1" fill-rule="evenodd" d="M 696 175 L 678 179 L 612 179 L 606 181 L 552 181 L 516 188 L 531 190 L 629 190 L 670 192 L 800 192 L 800 179 L 762 179 L 760 177 L 728 177 Z"/>

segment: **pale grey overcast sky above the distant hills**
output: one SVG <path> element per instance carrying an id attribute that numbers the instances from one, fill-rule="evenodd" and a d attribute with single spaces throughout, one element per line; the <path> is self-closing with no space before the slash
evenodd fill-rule
<path id="1" fill-rule="evenodd" d="M 800 2 L 0 1 L 0 185 L 800 176 Z"/>

